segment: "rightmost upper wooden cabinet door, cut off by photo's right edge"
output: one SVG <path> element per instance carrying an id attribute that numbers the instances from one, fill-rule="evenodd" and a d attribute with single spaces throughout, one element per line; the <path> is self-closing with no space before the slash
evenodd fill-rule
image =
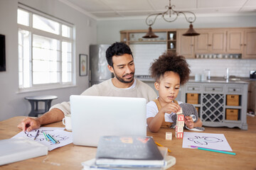
<path id="1" fill-rule="evenodd" d="M 245 29 L 243 59 L 256 59 L 256 28 Z"/>

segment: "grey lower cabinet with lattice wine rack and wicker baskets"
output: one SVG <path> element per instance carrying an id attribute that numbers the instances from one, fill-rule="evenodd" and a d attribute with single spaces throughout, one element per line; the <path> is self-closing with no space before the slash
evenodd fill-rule
<path id="1" fill-rule="evenodd" d="M 247 130 L 247 89 L 248 83 L 226 81 L 188 81 L 181 86 L 181 101 L 193 102 L 203 125 L 211 127 L 238 127 Z"/>

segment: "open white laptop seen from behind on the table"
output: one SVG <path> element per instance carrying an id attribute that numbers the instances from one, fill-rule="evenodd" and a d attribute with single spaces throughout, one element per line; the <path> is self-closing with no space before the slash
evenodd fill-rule
<path id="1" fill-rule="evenodd" d="M 101 136 L 146 136 L 146 99 L 70 96 L 73 144 L 97 147 Z"/>

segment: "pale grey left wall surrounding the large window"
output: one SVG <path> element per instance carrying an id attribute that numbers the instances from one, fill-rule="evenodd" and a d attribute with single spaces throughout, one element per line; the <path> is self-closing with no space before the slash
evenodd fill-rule
<path id="1" fill-rule="evenodd" d="M 75 25 L 76 86 L 65 89 L 34 91 L 18 94 L 18 2 L 36 8 Z M 88 26 L 88 20 L 90 25 Z M 26 96 L 55 95 L 52 105 L 69 101 L 71 94 L 81 94 L 89 86 L 88 77 L 79 77 L 79 54 L 89 55 L 89 45 L 97 42 L 97 23 L 85 14 L 75 11 L 58 0 L 1 0 L 0 34 L 6 35 L 6 72 L 0 72 L 0 120 L 17 115 L 28 115 L 31 106 Z"/>

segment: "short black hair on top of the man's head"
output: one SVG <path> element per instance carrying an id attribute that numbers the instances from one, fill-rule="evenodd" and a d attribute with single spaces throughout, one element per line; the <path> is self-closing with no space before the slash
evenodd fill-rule
<path id="1" fill-rule="evenodd" d="M 107 48 L 106 51 L 106 59 L 107 64 L 109 64 L 111 67 L 113 67 L 113 60 L 112 57 L 114 55 L 120 56 L 120 55 L 132 55 L 132 51 L 129 48 L 129 46 L 123 42 L 114 42 L 110 47 Z M 133 57 L 133 55 L 132 55 Z"/>

